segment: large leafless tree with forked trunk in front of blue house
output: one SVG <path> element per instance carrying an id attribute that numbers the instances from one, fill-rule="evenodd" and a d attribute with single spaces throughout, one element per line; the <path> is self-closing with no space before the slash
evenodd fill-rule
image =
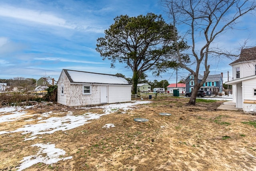
<path id="1" fill-rule="evenodd" d="M 190 51 L 190 63 L 182 61 L 176 37 L 176 48 L 179 66 L 188 70 L 194 76 L 194 90 L 188 104 L 196 104 L 198 89 L 204 84 L 210 73 L 209 58 L 234 56 L 225 49 L 214 47 L 214 40 L 223 35 L 227 30 L 235 28 L 238 19 L 245 14 L 255 12 L 254 0 L 162 0 L 167 13 L 176 30 L 188 28 L 185 34 L 178 33 L 184 41 L 188 42 Z M 176 34 L 176 32 L 174 32 Z M 200 67 L 204 68 L 205 74 L 202 82 L 198 82 Z"/>

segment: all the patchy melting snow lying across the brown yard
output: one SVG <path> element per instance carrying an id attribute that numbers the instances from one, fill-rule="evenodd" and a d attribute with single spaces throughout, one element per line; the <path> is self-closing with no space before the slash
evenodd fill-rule
<path id="1" fill-rule="evenodd" d="M 90 123 L 92 119 L 98 119 L 103 115 L 108 115 L 110 113 L 113 113 L 119 109 L 124 110 L 124 112 L 127 109 L 132 109 L 131 107 L 138 104 L 145 104 L 150 103 L 151 101 L 133 101 L 132 103 L 118 103 L 118 104 L 110 104 L 110 105 L 104 105 L 104 106 L 96 106 L 96 107 L 84 107 L 85 109 L 90 108 L 102 108 L 104 111 L 103 114 L 98 113 L 84 113 L 83 115 L 73 115 L 72 112 L 68 112 L 66 116 L 64 117 L 49 117 L 54 114 L 52 111 L 42 114 L 33 114 L 31 116 L 37 117 L 36 119 L 30 119 L 25 121 L 34 121 L 37 120 L 35 124 L 28 124 L 24 125 L 23 127 L 20 127 L 16 130 L 0 130 L 1 134 L 6 133 L 15 133 L 15 132 L 21 132 L 21 134 L 28 135 L 24 138 L 24 141 L 29 141 L 33 139 L 40 139 L 39 135 L 42 134 L 52 134 L 56 131 L 66 131 L 69 129 L 74 129 L 76 127 L 82 126 L 86 123 Z M 32 107 L 32 106 L 30 106 Z M 28 117 L 30 115 L 27 115 L 28 111 L 26 111 L 26 108 L 22 107 L 4 107 L 0 108 L 0 123 L 3 122 L 12 122 L 19 119 L 24 119 L 24 117 Z M 10 113 L 10 114 L 9 114 Z M 106 123 L 106 125 L 102 125 L 102 127 L 105 127 L 106 129 L 110 129 L 111 127 L 114 127 L 113 123 Z M 4 128 L 3 128 L 4 129 Z M 32 147 L 36 146 L 38 147 L 38 151 L 36 155 L 30 155 L 27 157 L 24 157 L 20 162 L 20 166 L 16 169 L 18 171 L 22 171 L 23 169 L 26 169 L 36 163 L 45 163 L 47 165 L 50 165 L 52 163 L 57 163 L 60 160 L 67 160 L 72 159 L 72 156 L 69 157 L 60 157 L 63 156 L 66 152 L 62 149 L 55 148 L 55 144 L 47 143 L 36 143 L 34 145 L 31 145 Z"/>

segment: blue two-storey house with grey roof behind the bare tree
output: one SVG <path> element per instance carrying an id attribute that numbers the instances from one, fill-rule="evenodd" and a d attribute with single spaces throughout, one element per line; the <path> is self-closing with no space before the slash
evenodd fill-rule
<path id="1" fill-rule="evenodd" d="M 202 82 L 204 76 L 198 74 L 198 83 Z M 190 74 L 186 78 L 186 92 L 191 92 L 194 89 L 194 76 Z M 216 94 L 222 92 L 223 90 L 223 73 L 215 74 L 215 75 L 208 75 L 206 81 L 199 88 L 199 90 L 207 91 L 210 94 Z"/>

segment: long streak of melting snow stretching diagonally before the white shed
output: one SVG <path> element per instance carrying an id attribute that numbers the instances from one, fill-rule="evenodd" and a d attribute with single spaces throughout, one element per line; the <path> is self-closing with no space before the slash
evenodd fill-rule
<path id="1" fill-rule="evenodd" d="M 118 104 L 91 107 L 91 108 L 103 108 L 104 109 L 103 114 L 85 113 L 83 115 L 74 116 L 73 113 L 69 111 L 68 114 L 64 117 L 49 117 L 49 114 L 54 114 L 54 113 L 53 112 L 42 113 L 41 115 L 49 118 L 40 120 L 36 124 L 24 125 L 23 127 L 20 127 L 14 131 L 9 131 L 9 132 L 0 131 L 0 134 L 22 132 L 22 134 L 31 133 L 29 137 L 34 137 L 36 135 L 42 135 L 46 133 L 51 134 L 56 131 L 66 131 L 66 130 L 70 130 L 70 129 L 74 129 L 76 127 L 82 126 L 86 123 L 90 123 L 90 120 L 92 119 L 98 119 L 103 115 L 108 115 L 110 113 L 113 113 L 116 111 L 116 109 L 123 109 L 125 111 L 127 109 L 131 109 L 130 107 L 133 105 L 145 104 L 145 103 L 151 103 L 151 101 L 134 101 L 134 103 L 118 103 Z M 17 119 L 22 115 L 24 114 L 21 113 L 20 116 L 17 115 L 15 117 Z M 42 117 L 39 117 L 39 119 L 42 119 Z"/>

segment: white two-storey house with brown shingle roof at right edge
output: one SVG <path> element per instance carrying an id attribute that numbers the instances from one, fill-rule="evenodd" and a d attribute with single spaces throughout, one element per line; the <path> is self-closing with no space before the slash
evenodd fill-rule
<path id="1" fill-rule="evenodd" d="M 233 102 L 236 108 L 245 112 L 256 112 L 256 47 L 241 50 L 238 60 L 232 66 Z"/>

